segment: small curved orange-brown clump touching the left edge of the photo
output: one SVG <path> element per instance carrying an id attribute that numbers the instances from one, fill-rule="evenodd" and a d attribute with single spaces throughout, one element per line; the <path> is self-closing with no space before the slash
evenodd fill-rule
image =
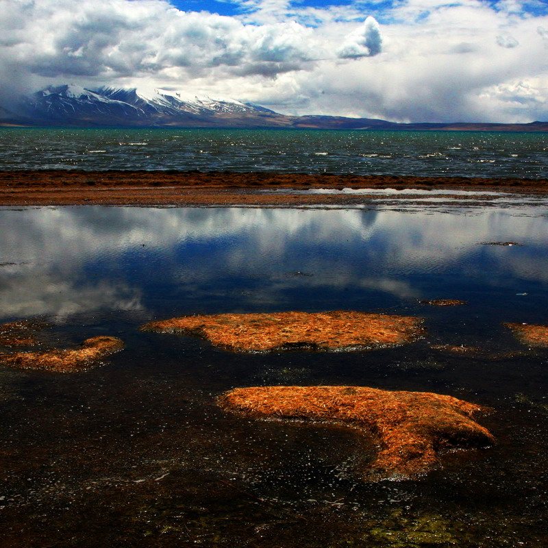
<path id="1" fill-rule="evenodd" d="M 76 373 L 112 353 L 123 349 L 121 339 L 110 336 L 84 340 L 79 349 L 53 349 L 38 352 L 0 353 L 0 362 L 21 369 L 45 369 L 58 373 Z"/>

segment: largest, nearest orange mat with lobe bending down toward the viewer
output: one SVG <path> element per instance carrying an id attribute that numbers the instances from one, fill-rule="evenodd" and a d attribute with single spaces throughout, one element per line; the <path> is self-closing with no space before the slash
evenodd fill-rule
<path id="1" fill-rule="evenodd" d="M 429 392 L 391 392 L 361 386 L 262 386 L 221 395 L 224 410 L 253 417 L 345 423 L 373 434 L 379 453 L 366 479 L 406 479 L 439 464 L 438 452 L 495 443 L 472 416 L 482 406 Z"/>

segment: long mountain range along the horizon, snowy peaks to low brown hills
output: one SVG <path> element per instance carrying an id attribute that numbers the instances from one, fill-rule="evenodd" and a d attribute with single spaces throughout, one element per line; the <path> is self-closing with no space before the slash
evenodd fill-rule
<path id="1" fill-rule="evenodd" d="M 392 129 L 548 132 L 548 122 L 394 123 L 344 116 L 286 116 L 234 99 L 196 97 L 182 92 L 74 84 L 47 86 L 25 95 L 13 108 L 0 105 L 0 126 L 23 127 L 225 127 L 288 129 Z"/>

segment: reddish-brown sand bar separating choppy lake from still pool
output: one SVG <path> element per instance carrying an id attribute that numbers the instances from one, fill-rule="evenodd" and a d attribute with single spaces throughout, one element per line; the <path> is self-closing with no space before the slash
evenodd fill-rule
<path id="1" fill-rule="evenodd" d="M 0 205 L 297 206 L 362 203 L 363 195 L 295 195 L 312 188 L 453 188 L 547 192 L 548 179 L 181 171 L 0 171 Z M 258 190 L 286 189 L 269 194 Z M 409 198 L 407 196 L 406 198 Z"/>

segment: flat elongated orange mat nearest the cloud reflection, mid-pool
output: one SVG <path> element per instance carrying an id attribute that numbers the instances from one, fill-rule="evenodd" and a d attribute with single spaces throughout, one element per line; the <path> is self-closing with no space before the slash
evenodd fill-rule
<path id="1" fill-rule="evenodd" d="M 410 343 L 423 332 L 418 318 L 353 311 L 182 316 L 141 329 L 196 335 L 236 352 L 364 350 Z"/>

